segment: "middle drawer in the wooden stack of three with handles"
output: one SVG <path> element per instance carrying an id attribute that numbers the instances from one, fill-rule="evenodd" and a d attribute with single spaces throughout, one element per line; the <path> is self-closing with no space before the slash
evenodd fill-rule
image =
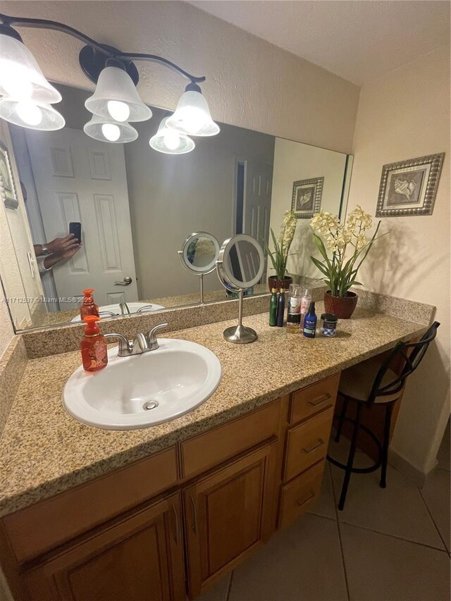
<path id="1" fill-rule="evenodd" d="M 333 407 L 330 407 L 288 430 L 285 482 L 326 457 L 332 418 Z"/>

